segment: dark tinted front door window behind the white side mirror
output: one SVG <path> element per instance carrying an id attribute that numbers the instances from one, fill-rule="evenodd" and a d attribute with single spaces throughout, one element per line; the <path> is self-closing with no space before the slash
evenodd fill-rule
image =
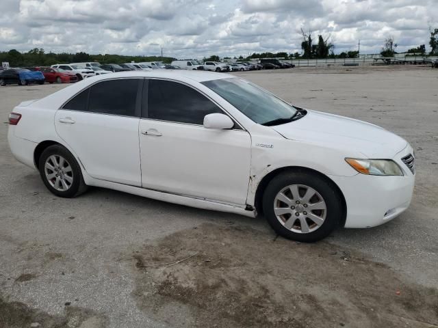
<path id="1" fill-rule="evenodd" d="M 202 125 L 204 116 L 211 113 L 222 111 L 191 87 L 171 81 L 149 80 L 149 118 Z"/>

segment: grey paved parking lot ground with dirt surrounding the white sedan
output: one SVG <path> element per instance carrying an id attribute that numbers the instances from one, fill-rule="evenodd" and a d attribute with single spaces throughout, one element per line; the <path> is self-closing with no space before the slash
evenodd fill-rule
<path id="1" fill-rule="evenodd" d="M 96 188 L 58 198 L 12 157 L 6 121 L 19 102 L 68 85 L 0 87 L 0 327 L 438 327 L 438 72 L 234 74 L 407 139 L 409 209 L 307 245 L 277 238 L 261 217 Z"/>

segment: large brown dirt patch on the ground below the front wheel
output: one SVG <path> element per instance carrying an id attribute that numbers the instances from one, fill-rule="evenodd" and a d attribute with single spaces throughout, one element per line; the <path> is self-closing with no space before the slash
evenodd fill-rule
<path id="1" fill-rule="evenodd" d="M 438 291 L 329 243 L 203 224 L 131 254 L 139 307 L 172 327 L 435 327 Z"/>

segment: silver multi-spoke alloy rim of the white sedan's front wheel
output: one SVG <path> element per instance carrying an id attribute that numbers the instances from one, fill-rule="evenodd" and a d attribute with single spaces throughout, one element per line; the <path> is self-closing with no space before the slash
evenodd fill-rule
<path id="1" fill-rule="evenodd" d="M 308 234 L 322 226 L 327 206 L 315 189 L 303 184 L 291 184 L 276 194 L 274 213 L 285 228 Z"/>

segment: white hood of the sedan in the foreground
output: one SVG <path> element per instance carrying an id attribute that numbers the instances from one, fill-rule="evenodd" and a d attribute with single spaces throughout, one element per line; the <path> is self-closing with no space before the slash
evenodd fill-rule
<path id="1" fill-rule="evenodd" d="M 271 128 L 287 139 L 344 148 L 370 159 L 391 159 L 407 146 L 406 140 L 380 126 L 320 111 L 307 110 L 304 118 Z"/>

